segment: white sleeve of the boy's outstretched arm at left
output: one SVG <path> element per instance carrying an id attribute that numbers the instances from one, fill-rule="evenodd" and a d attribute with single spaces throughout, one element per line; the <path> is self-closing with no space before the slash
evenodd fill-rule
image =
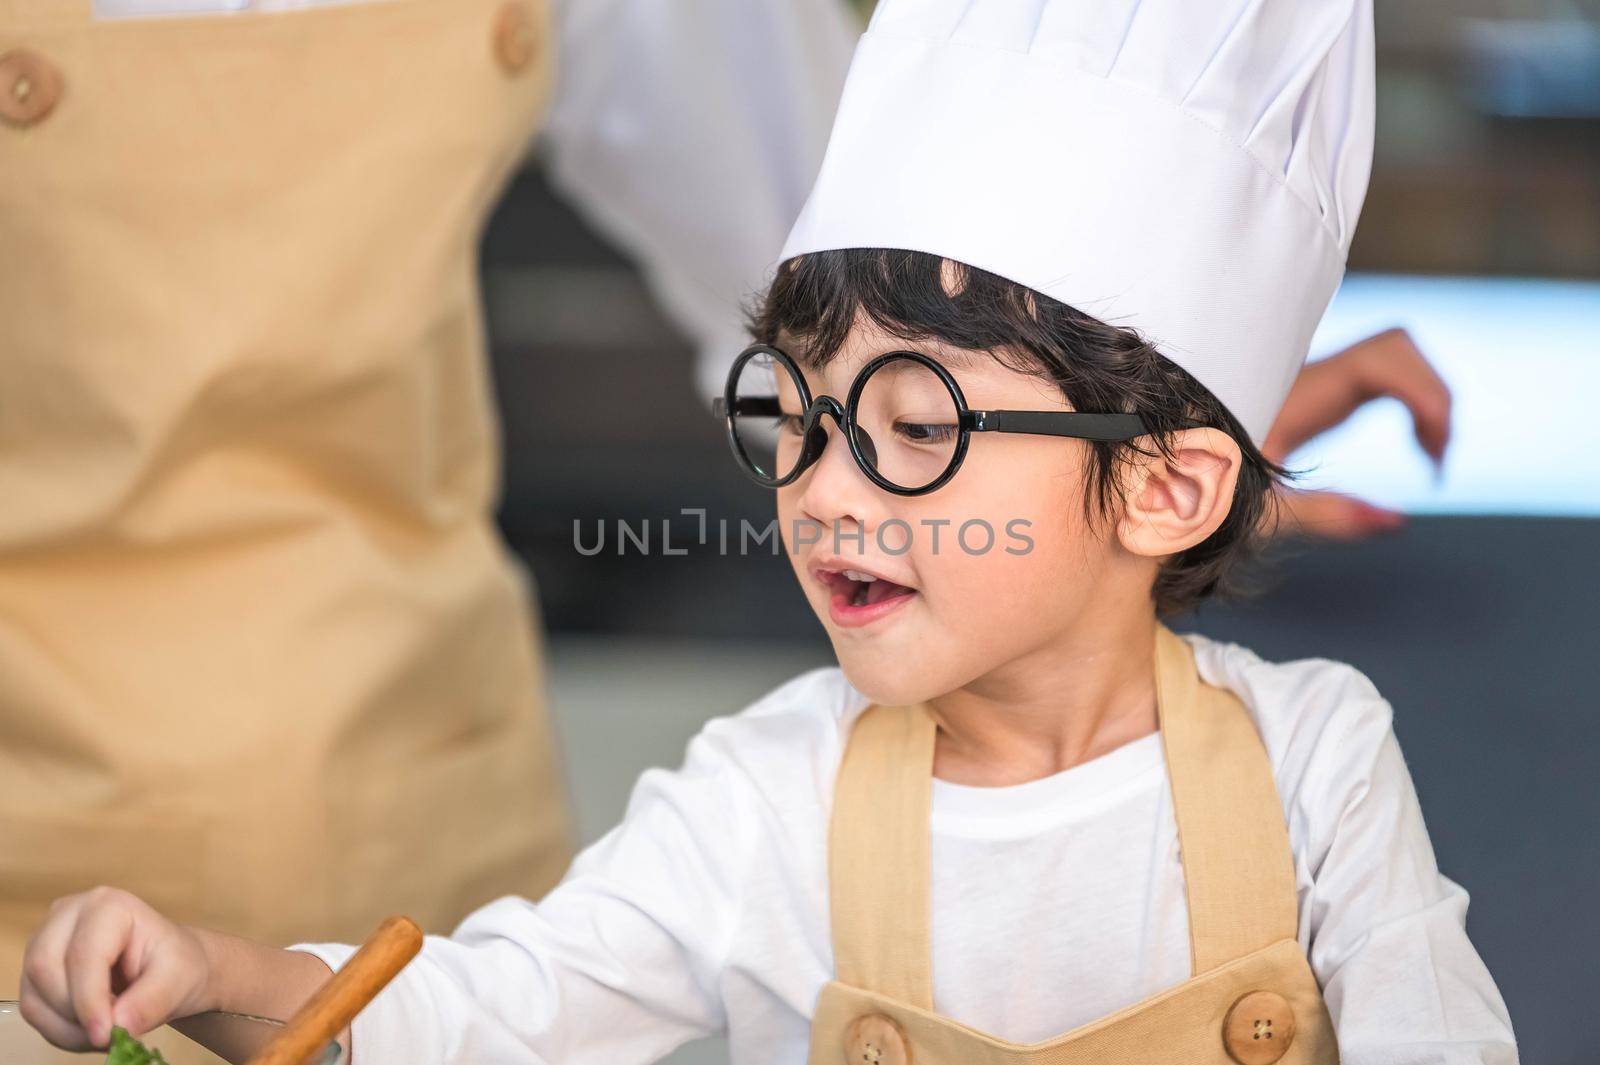
<path id="1" fill-rule="evenodd" d="M 354 1065 L 629 1065 L 720 1031 L 720 969 L 755 844 L 752 785 L 702 732 L 541 902 L 506 897 L 357 1017 Z M 309 945 L 331 966 L 350 947 Z"/>

